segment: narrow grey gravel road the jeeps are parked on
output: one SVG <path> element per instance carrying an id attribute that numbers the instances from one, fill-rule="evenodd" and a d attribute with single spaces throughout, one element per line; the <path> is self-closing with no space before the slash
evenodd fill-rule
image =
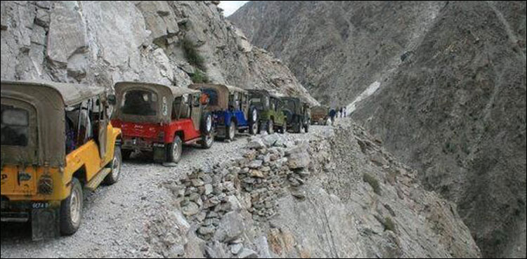
<path id="1" fill-rule="evenodd" d="M 313 126 L 308 134 L 322 128 Z M 2 223 L 1 258 L 155 257 L 145 242 L 144 228 L 157 208 L 172 201 L 162 182 L 178 180 L 195 167 L 239 157 L 246 144 L 247 135 L 241 134 L 233 142 L 215 142 L 209 150 L 186 147 L 181 161 L 171 168 L 148 157 L 125 161 L 119 182 L 85 192 L 83 222 L 76 234 L 35 242 L 29 224 Z"/>

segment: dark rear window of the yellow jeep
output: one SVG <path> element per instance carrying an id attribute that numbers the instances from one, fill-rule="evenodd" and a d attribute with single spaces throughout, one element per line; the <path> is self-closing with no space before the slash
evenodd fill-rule
<path id="1" fill-rule="evenodd" d="M 1 145 L 27 146 L 29 112 L 13 106 L 1 105 Z"/>

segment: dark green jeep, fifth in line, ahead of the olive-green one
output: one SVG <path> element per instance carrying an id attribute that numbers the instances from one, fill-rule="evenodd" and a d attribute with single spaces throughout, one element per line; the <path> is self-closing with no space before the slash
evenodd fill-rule
<path id="1" fill-rule="evenodd" d="M 280 98 L 284 103 L 282 109 L 287 117 L 287 129 L 295 133 L 308 132 L 311 124 L 309 105 L 296 97 Z"/>

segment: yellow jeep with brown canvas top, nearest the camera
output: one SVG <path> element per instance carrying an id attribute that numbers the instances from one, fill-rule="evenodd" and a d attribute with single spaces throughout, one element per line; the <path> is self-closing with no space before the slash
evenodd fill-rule
<path id="1" fill-rule="evenodd" d="M 1 221 L 32 224 L 34 240 L 77 232 L 83 190 L 117 182 L 121 131 L 104 88 L 1 81 Z"/>

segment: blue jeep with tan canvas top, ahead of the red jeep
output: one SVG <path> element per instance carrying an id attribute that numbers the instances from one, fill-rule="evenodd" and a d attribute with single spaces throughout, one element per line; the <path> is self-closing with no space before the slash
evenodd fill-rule
<path id="1" fill-rule="evenodd" d="M 216 137 L 234 140 L 236 131 L 258 132 L 258 110 L 249 103 L 249 93 L 223 84 L 192 84 L 188 88 L 202 91 L 209 101 L 207 110 L 214 117 Z"/>

